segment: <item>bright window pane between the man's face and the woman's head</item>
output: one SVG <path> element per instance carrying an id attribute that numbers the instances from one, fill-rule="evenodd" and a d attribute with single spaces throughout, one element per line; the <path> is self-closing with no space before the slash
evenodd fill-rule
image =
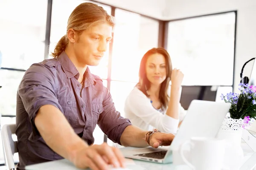
<path id="1" fill-rule="evenodd" d="M 138 82 L 141 58 L 158 45 L 159 23 L 121 9 L 115 18 L 111 79 Z"/>

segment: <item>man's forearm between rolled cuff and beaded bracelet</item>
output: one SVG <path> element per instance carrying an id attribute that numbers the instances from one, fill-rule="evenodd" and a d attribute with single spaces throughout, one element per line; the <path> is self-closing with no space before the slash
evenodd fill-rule
<path id="1" fill-rule="evenodd" d="M 125 147 L 147 147 L 147 142 L 143 139 L 147 132 L 133 125 L 127 126 L 122 133 L 120 142 Z"/>

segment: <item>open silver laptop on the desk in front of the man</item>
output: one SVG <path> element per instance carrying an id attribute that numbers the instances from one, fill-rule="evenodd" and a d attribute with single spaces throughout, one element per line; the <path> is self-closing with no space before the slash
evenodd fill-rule
<path id="1" fill-rule="evenodd" d="M 181 144 L 191 137 L 214 138 L 230 106 L 230 103 L 193 100 L 169 147 L 157 149 L 153 147 L 135 148 L 126 150 L 124 156 L 157 163 L 170 163 L 172 162 L 172 150 L 177 150 Z"/>

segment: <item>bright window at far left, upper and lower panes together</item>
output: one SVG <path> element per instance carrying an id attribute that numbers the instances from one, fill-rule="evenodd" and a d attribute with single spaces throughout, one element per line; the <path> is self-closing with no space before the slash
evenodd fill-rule
<path id="1" fill-rule="evenodd" d="M 31 8 L 33 6 L 33 8 Z M 0 114 L 16 114 L 16 94 L 24 72 L 44 59 L 47 0 L 5 0 L 0 5 Z M 0 61 L 1 63 L 1 61 Z M 5 70 L 11 68 L 13 70 Z"/>

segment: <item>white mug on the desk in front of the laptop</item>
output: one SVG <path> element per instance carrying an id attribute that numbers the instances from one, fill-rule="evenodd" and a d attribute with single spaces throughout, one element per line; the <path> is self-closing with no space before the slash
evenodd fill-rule
<path id="1" fill-rule="evenodd" d="M 188 145 L 189 158 L 186 158 L 183 151 Z M 193 170 L 221 170 L 224 153 L 225 140 L 222 139 L 192 137 L 180 147 L 181 158 Z"/>

